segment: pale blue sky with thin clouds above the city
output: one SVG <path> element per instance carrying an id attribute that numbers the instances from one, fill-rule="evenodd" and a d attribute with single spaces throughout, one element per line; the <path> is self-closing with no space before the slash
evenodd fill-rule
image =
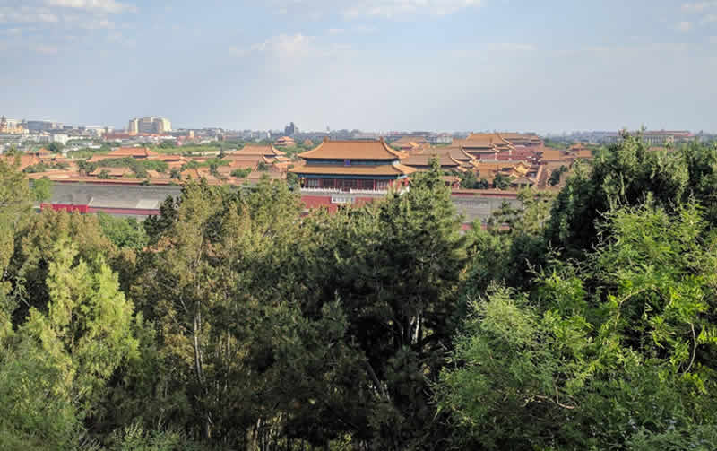
<path id="1" fill-rule="evenodd" d="M 717 0 L 0 0 L 0 115 L 717 132 Z"/>

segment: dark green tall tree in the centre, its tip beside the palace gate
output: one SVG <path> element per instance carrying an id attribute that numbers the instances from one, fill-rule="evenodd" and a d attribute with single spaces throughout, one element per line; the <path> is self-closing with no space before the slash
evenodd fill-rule
<path id="1" fill-rule="evenodd" d="M 427 393 L 454 333 L 467 258 L 460 229 L 435 165 L 410 192 L 338 213 L 317 234 L 322 299 L 340 299 L 347 339 L 365 359 L 355 390 L 369 404 L 354 434 L 370 447 L 419 447 L 436 433 L 426 427 L 436 415 Z"/>

